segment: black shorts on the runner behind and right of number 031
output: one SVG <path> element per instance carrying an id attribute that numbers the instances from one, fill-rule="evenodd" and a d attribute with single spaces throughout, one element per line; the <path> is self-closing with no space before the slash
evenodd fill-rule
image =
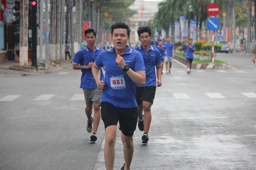
<path id="1" fill-rule="evenodd" d="M 156 88 L 156 86 L 136 87 L 137 105 L 141 105 L 142 101 L 150 102 L 153 105 L 154 96 L 156 95 Z"/>

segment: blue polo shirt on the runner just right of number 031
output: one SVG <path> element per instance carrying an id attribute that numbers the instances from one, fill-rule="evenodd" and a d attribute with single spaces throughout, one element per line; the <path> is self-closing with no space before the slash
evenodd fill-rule
<path id="1" fill-rule="evenodd" d="M 158 49 L 153 48 L 152 45 L 149 45 L 148 51 L 145 50 L 142 45 L 137 46 L 134 50 L 139 51 L 145 63 L 146 68 L 146 82 L 143 87 L 148 86 L 157 86 L 156 85 L 156 71 L 155 67 L 161 65 L 161 55 Z M 138 86 L 138 85 L 137 85 Z"/>

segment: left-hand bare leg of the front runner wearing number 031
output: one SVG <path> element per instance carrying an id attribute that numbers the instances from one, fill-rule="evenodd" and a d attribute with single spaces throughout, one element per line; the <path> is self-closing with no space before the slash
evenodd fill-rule
<path id="1" fill-rule="evenodd" d="M 106 130 L 105 146 L 104 146 L 105 166 L 106 166 L 106 170 L 113 170 L 114 160 L 115 160 L 116 125 L 108 126 L 105 130 Z M 132 150 L 132 153 L 133 153 L 133 150 Z"/>

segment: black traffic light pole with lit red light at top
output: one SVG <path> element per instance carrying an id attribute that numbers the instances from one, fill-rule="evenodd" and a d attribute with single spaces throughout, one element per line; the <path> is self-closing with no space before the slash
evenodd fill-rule
<path id="1" fill-rule="evenodd" d="M 36 63 L 36 58 L 37 58 L 37 50 L 36 50 L 36 45 L 37 45 L 37 23 L 36 23 L 36 18 L 37 18 L 37 1 L 30 1 L 31 4 L 31 30 L 32 30 L 32 58 L 31 58 L 31 65 L 34 66 L 37 69 L 37 63 Z"/>

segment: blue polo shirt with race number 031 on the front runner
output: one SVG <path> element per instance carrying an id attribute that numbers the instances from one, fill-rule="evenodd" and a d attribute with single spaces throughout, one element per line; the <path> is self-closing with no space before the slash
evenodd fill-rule
<path id="1" fill-rule="evenodd" d="M 145 72 L 143 57 L 138 51 L 127 45 L 125 53 L 121 56 L 134 72 Z M 102 51 L 95 64 L 97 67 L 106 68 L 101 101 L 120 108 L 137 107 L 136 84 L 116 63 L 115 48 Z"/>

